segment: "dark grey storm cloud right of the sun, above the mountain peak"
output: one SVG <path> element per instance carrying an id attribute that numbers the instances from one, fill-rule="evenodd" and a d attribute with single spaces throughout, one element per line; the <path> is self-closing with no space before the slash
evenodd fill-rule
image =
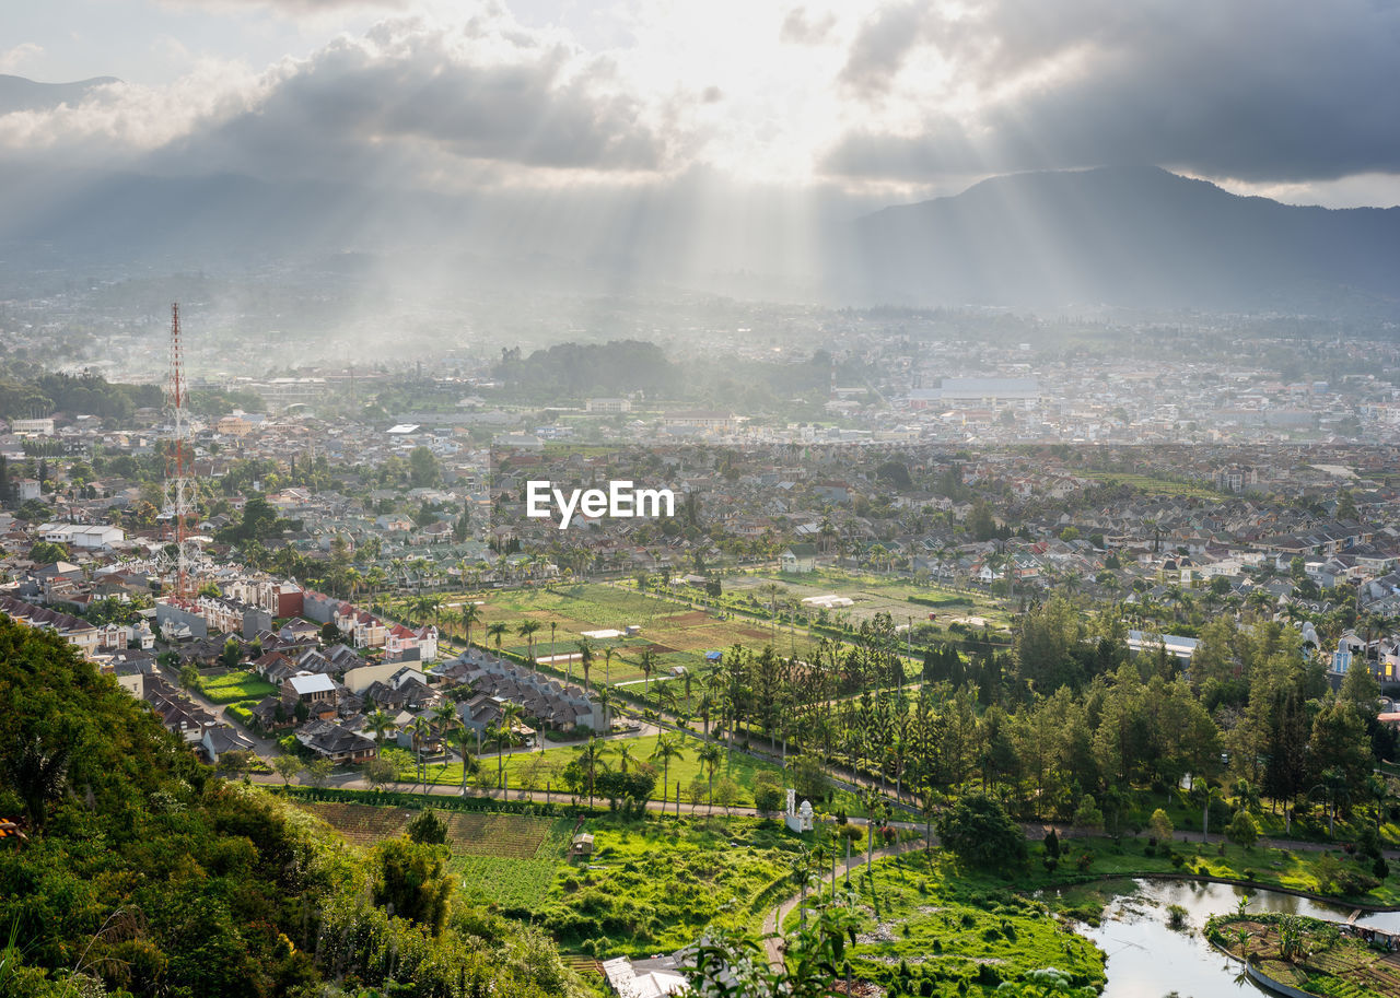
<path id="1" fill-rule="evenodd" d="M 897 92 L 899 67 L 927 45 L 984 105 L 959 118 L 932 106 L 913 136 L 853 132 L 822 164 L 832 175 L 1121 161 L 1245 181 L 1400 171 L 1394 3 L 1001 0 L 976 20 L 921 8 L 916 22 L 893 10 L 903 31 L 890 14 L 867 24 L 841 83 Z"/>

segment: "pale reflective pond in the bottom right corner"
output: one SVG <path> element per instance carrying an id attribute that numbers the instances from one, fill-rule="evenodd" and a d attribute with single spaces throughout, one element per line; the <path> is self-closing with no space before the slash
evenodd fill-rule
<path id="1" fill-rule="evenodd" d="M 1137 880 L 1137 890 L 1114 899 L 1098 928 L 1081 927 L 1107 955 L 1107 987 L 1103 998 L 1210 998 L 1242 992 L 1270 994 L 1240 973 L 1240 964 L 1217 950 L 1201 935 L 1212 914 L 1235 911 L 1242 897 L 1250 911 L 1285 911 L 1310 918 L 1347 921 L 1354 908 L 1323 904 L 1277 890 L 1235 887 L 1224 883 Z M 1180 904 L 1191 931 L 1166 925 L 1166 908 Z M 1358 925 L 1400 931 L 1400 911 L 1357 918 Z"/>

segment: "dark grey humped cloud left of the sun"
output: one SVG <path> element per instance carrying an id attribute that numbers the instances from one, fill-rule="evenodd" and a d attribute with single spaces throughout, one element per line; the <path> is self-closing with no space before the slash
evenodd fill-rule
<path id="1" fill-rule="evenodd" d="M 469 25 L 468 35 L 487 32 Z M 463 55 L 444 32 L 381 27 L 295 64 L 252 109 L 161 153 L 220 169 L 350 176 L 449 169 L 483 160 L 525 167 L 654 169 L 665 143 L 615 92 L 606 60 L 498 35 L 508 57 Z M 381 176 L 379 179 L 385 179 Z"/>

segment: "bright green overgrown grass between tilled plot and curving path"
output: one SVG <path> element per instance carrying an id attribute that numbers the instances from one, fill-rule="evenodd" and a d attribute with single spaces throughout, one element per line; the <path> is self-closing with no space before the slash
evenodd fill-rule
<path id="1" fill-rule="evenodd" d="M 804 841 L 746 817 L 589 822 L 592 859 L 559 873 L 543 925 L 571 952 L 647 956 L 707 925 L 759 931 Z"/>

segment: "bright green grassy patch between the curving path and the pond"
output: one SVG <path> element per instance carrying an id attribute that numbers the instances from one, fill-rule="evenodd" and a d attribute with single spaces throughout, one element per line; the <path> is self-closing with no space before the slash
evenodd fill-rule
<path id="1" fill-rule="evenodd" d="M 965 876 L 941 850 L 881 859 L 874 885 L 862 868 L 851 887 L 854 976 L 889 995 L 994 994 L 1047 967 L 1075 987 L 1103 984 L 1103 953 L 1092 942 L 1007 882 Z M 784 928 L 798 920 L 794 911 Z"/>

